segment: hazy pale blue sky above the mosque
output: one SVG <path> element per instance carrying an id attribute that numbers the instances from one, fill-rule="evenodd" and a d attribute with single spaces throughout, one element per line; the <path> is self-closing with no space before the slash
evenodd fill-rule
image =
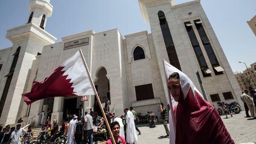
<path id="1" fill-rule="evenodd" d="M 175 4 L 191 0 L 175 0 Z M 45 30 L 61 37 L 83 31 L 96 33 L 118 28 L 122 36 L 147 30 L 137 0 L 51 0 L 52 17 Z M 29 0 L 0 0 L 0 49 L 12 46 L 6 30 L 27 23 Z M 201 0 L 201 5 L 233 71 L 243 71 L 256 62 L 256 37 L 247 24 L 256 15 L 256 0 Z"/>

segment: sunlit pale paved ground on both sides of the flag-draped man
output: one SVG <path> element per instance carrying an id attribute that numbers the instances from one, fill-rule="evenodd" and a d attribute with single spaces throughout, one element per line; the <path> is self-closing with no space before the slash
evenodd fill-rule
<path id="1" fill-rule="evenodd" d="M 228 132 L 236 144 L 256 142 L 256 119 L 244 118 L 244 111 L 239 114 L 221 116 L 222 121 L 227 127 Z M 166 136 L 163 124 L 158 123 L 156 127 L 150 128 L 148 124 L 137 125 L 142 135 L 138 136 L 137 144 L 169 144 L 169 138 Z"/>

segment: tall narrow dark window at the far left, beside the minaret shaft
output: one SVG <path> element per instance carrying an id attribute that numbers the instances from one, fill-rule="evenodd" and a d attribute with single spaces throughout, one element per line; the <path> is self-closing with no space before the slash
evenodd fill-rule
<path id="1" fill-rule="evenodd" d="M 7 80 L 6 80 L 6 85 L 3 89 L 3 95 L 2 95 L 2 98 L 0 101 L 0 116 L 2 115 L 2 112 L 3 112 L 3 106 L 6 101 L 6 97 L 7 97 L 11 82 L 12 82 L 12 76 L 15 71 L 15 67 L 16 67 L 16 64 L 17 64 L 17 61 L 19 58 L 19 54 L 20 54 L 20 47 L 18 47 L 16 52 L 13 54 L 14 58 L 13 58 L 12 66 L 11 66 L 9 73 L 6 76 L 4 76 L 4 77 L 7 77 Z"/>

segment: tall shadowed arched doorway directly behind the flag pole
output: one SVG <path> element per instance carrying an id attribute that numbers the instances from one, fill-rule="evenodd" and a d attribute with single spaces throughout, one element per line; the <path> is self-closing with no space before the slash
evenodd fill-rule
<path id="1" fill-rule="evenodd" d="M 99 99 L 100 99 L 101 103 L 105 102 L 105 108 L 107 106 L 107 99 L 111 100 L 110 85 L 109 85 L 108 77 L 106 75 L 107 75 L 107 70 L 104 67 L 100 68 L 98 73 L 96 73 L 96 77 L 98 79 L 95 82 L 95 87 L 99 94 Z M 95 98 L 95 101 L 97 101 L 96 98 Z M 99 115 L 102 115 L 102 113 L 100 112 L 100 110 L 98 108 L 94 107 L 94 111 L 99 113 Z"/>

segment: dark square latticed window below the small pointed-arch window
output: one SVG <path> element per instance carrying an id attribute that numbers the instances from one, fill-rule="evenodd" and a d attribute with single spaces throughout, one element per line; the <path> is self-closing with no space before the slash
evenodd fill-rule
<path id="1" fill-rule="evenodd" d="M 136 99 L 142 101 L 146 99 L 154 99 L 154 92 L 152 84 L 135 86 Z"/>

